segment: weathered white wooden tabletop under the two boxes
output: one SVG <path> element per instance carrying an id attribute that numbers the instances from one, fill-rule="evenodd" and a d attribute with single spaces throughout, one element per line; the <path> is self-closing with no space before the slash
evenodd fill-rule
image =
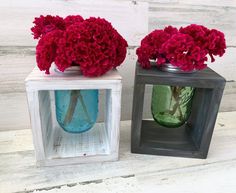
<path id="1" fill-rule="evenodd" d="M 130 153 L 121 122 L 120 160 L 37 168 L 31 131 L 0 132 L 0 193 L 235 193 L 236 112 L 219 113 L 208 159 Z"/>

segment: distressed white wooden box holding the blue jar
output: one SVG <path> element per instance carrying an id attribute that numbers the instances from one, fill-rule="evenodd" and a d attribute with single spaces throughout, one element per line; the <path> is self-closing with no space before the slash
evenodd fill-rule
<path id="1" fill-rule="evenodd" d="M 121 76 L 117 70 L 87 78 L 34 68 L 25 79 L 28 106 L 38 165 L 64 165 L 118 159 L 121 107 Z M 105 90 L 104 122 L 81 134 L 65 132 L 55 115 L 54 90 Z"/>

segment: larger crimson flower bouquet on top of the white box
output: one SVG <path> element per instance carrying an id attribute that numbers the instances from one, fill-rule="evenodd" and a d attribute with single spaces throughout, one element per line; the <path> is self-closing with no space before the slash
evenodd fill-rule
<path id="1" fill-rule="evenodd" d="M 83 75 L 100 76 L 125 59 L 128 44 L 105 19 L 47 15 L 33 23 L 37 64 L 46 74 L 54 62 L 62 72 L 80 66 Z"/>

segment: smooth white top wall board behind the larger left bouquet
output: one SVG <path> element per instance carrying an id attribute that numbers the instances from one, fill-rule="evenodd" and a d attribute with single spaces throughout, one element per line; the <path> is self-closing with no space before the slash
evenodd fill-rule
<path id="1" fill-rule="evenodd" d="M 36 41 L 30 32 L 32 22 L 35 17 L 46 14 L 105 18 L 127 39 L 129 45 L 137 45 L 148 29 L 148 4 L 145 2 L 4 0 L 0 4 L 0 18 L 4 18 L 0 20 L 0 26 L 4 26 L 1 28 L 1 45 L 34 46 Z"/>

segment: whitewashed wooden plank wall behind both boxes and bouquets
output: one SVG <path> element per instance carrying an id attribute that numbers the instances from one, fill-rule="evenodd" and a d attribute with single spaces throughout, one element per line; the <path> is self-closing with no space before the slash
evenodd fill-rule
<path id="1" fill-rule="evenodd" d="M 135 49 L 142 37 L 166 25 L 203 24 L 222 30 L 227 51 L 210 65 L 227 79 L 221 111 L 236 110 L 236 1 L 235 0 L 2 0 L 0 3 L 0 130 L 27 129 L 29 116 L 24 78 L 36 65 L 36 41 L 30 35 L 40 14 L 101 16 L 113 23 L 128 40 L 127 58 L 119 71 L 123 76 L 122 119 L 130 119 L 137 59 Z M 147 95 L 150 95 L 148 91 Z"/>

